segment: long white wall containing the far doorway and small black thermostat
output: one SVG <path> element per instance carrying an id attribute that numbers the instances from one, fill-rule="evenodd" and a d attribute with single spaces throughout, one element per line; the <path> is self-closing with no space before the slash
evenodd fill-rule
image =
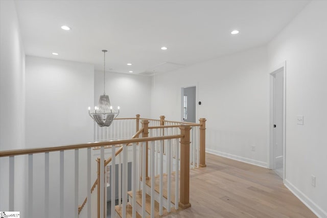
<path id="1" fill-rule="evenodd" d="M 266 47 L 155 75 L 151 116 L 181 119 L 181 87 L 197 86 L 197 120 L 205 117 L 208 152 L 267 166 Z M 251 151 L 255 146 L 255 151 Z"/>

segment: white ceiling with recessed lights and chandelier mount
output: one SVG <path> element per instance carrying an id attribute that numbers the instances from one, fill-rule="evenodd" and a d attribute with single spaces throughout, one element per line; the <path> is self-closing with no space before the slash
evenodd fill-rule
<path id="1" fill-rule="evenodd" d="M 308 1 L 16 1 L 27 55 L 133 74 L 269 42 Z M 60 27 L 72 28 L 64 31 Z M 238 35 L 231 35 L 234 29 Z M 167 46 L 168 50 L 160 50 Z M 52 55 L 59 53 L 58 56 Z M 132 66 L 127 66 L 132 63 Z M 168 65 L 167 65 L 168 64 Z"/>

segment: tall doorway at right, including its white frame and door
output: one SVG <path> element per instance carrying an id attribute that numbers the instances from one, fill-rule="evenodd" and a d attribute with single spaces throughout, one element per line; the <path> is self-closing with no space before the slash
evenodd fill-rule
<path id="1" fill-rule="evenodd" d="M 285 179 L 285 64 L 270 74 L 270 168 Z"/>

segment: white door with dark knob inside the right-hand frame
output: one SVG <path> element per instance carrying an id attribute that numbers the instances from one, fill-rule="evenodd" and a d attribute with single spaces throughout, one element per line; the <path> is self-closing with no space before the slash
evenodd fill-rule
<path id="1" fill-rule="evenodd" d="M 273 120 L 273 169 L 283 178 L 284 175 L 284 68 L 277 70 L 274 79 L 274 120 Z"/>

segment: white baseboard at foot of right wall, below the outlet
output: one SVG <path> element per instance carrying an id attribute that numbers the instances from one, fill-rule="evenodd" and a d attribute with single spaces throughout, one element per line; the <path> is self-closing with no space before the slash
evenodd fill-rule
<path id="1" fill-rule="evenodd" d="M 285 179 L 285 186 L 303 203 L 305 204 L 314 214 L 320 218 L 327 218 L 327 212 L 321 209 L 311 199 L 309 199 L 302 191 L 295 187 L 290 181 Z"/>

